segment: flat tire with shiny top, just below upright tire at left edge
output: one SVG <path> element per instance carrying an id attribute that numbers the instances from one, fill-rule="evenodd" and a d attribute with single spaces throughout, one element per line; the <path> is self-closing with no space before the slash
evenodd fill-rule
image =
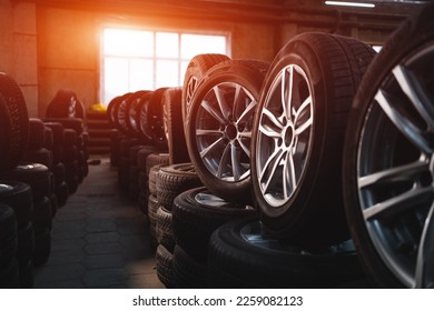
<path id="1" fill-rule="evenodd" d="M 50 194 L 50 170 L 43 164 L 23 162 L 14 169 L 1 173 L 0 178 L 18 180 L 29 184 L 32 190 L 33 202 L 39 202 Z"/>

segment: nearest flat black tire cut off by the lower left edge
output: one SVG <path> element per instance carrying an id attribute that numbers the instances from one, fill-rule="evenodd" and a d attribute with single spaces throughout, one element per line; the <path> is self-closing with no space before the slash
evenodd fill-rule
<path id="1" fill-rule="evenodd" d="M 0 203 L 0 270 L 17 252 L 17 218 L 13 209 Z"/>

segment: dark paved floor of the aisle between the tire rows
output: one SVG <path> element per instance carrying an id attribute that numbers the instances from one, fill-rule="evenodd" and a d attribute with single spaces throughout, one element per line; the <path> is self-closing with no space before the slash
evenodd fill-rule
<path id="1" fill-rule="evenodd" d="M 119 191 L 109 159 L 89 165 L 78 191 L 59 209 L 51 254 L 34 271 L 34 288 L 165 288 L 156 273 L 146 218 Z"/>

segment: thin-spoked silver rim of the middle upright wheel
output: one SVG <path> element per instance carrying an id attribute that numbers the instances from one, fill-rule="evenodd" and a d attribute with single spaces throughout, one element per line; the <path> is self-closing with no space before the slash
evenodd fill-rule
<path id="1" fill-rule="evenodd" d="M 198 156 L 211 175 L 237 182 L 250 174 L 251 124 L 257 101 L 243 86 L 223 82 L 201 99 L 196 117 Z"/>

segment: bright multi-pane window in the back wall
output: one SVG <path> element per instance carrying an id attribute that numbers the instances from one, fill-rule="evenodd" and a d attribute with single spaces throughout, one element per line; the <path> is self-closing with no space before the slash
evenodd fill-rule
<path id="1" fill-rule="evenodd" d="M 179 87 L 189 60 L 227 53 L 226 36 L 107 28 L 102 38 L 102 102 L 126 92 Z"/>

